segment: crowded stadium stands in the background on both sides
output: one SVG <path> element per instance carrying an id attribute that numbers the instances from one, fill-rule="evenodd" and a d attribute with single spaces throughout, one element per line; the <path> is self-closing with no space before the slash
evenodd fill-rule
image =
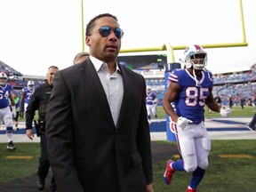
<path id="1" fill-rule="evenodd" d="M 0 60 L 0 71 L 4 71 L 9 76 L 8 84 L 12 84 L 13 89 L 21 92 L 29 80 L 35 82 L 36 86 L 44 83 L 44 76 L 22 75 L 19 71 L 11 68 Z M 152 91 L 156 92 L 158 105 L 162 105 L 165 92 L 164 70 L 146 69 L 134 70 L 146 79 L 146 84 Z M 239 106 L 240 100 L 244 98 L 245 105 L 255 106 L 256 103 L 256 63 L 250 70 L 236 71 L 222 74 L 213 74 L 213 96 L 219 95 L 222 105 L 228 106 L 229 99 L 232 98 L 233 105 Z M 255 106 L 256 107 L 256 106 Z"/>

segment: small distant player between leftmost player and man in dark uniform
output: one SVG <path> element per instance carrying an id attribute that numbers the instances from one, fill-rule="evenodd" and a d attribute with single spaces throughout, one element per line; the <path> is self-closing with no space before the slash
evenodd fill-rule
<path id="1" fill-rule="evenodd" d="M 35 82 L 28 81 L 27 87 L 24 87 L 21 92 L 20 109 L 26 112 L 30 96 L 35 91 Z"/>

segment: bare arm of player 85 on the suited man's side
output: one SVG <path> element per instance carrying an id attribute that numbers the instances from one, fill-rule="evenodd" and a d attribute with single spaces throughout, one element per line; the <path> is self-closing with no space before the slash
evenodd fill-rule
<path id="1" fill-rule="evenodd" d="M 177 123 L 179 116 L 177 116 L 172 108 L 171 103 L 176 100 L 180 93 L 180 84 L 171 82 L 167 91 L 164 94 L 163 108 L 164 111 L 172 117 L 172 121 Z"/>

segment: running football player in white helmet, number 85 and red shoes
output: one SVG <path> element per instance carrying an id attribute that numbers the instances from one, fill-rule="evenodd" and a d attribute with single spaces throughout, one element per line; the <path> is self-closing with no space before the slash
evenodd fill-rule
<path id="1" fill-rule="evenodd" d="M 206 68 L 207 52 L 198 44 L 184 52 L 183 69 L 174 69 L 164 95 L 163 108 L 175 124 L 176 139 L 182 159 L 166 162 L 164 181 L 172 182 L 176 171 L 191 172 L 187 192 L 195 192 L 208 167 L 211 140 L 204 126 L 204 105 L 221 116 L 229 116 L 230 108 L 221 107 L 212 96 L 212 73 Z"/>

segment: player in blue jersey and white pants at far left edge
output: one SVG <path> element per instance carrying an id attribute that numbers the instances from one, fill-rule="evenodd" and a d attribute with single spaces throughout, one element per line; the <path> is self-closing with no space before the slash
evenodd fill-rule
<path id="1" fill-rule="evenodd" d="M 0 119 L 4 121 L 6 127 L 6 136 L 7 136 L 7 147 L 10 150 L 15 149 L 15 145 L 12 141 L 12 116 L 16 117 L 16 108 L 15 102 L 12 97 L 12 85 L 7 84 L 8 76 L 4 71 L 0 72 Z M 11 108 L 9 107 L 9 99 L 11 101 Z M 2 122 L 1 121 L 1 122 Z"/>

